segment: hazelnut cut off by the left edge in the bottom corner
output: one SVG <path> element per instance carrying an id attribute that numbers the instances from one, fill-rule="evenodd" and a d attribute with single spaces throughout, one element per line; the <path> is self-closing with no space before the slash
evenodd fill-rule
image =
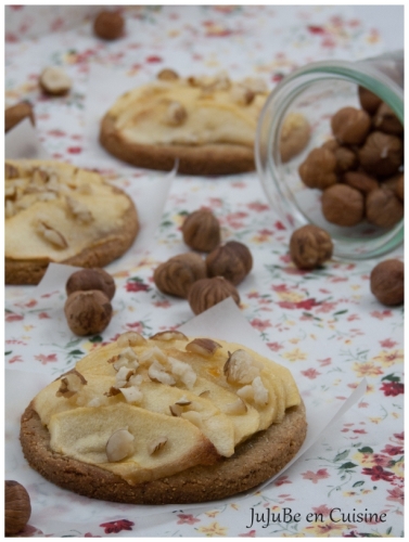
<path id="1" fill-rule="evenodd" d="M 4 481 L 4 533 L 18 534 L 31 515 L 29 494 L 24 486 L 15 480 Z"/>

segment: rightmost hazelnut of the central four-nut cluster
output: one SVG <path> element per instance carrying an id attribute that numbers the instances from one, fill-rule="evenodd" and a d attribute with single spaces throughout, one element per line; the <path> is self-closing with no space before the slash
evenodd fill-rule
<path id="1" fill-rule="evenodd" d="M 238 241 L 228 241 L 217 246 L 206 257 L 208 276 L 223 276 L 238 285 L 251 272 L 253 256 L 250 249 Z"/>

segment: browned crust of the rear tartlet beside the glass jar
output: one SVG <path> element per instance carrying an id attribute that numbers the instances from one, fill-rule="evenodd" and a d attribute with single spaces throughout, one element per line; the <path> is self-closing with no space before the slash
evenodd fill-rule
<path id="1" fill-rule="evenodd" d="M 254 151 L 244 145 L 208 144 L 141 145 L 126 141 L 115 129 L 115 117 L 107 113 L 101 122 L 102 146 L 128 164 L 146 169 L 170 171 L 178 159 L 178 172 L 186 175 L 229 175 L 254 171 Z"/>

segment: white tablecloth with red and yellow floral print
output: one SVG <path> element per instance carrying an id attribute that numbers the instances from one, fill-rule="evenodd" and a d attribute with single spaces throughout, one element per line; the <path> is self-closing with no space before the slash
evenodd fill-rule
<path id="1" fill-rule="evenodd" d="M 24 483 L 31 498 L 23 535 L 402 537 L 404 310 L 386 308 L 371 295 L 369 275 L 376 261 L 334 259 L 321 270 L 297 270 L 289 257 L 289 232 L 269 207 L 257 173 L 171 179 L 107 155 L 97 157 L 87 114 L 95 66 L 137 83 L 162 67 L 187 75 L 227 69 L 234 78 L 263 76 L 272 89 L 307 62 L 384 52 L 382 34 L 353 5 L 119 10 L 126 36 L 103 42 L 92 33 L 97 7 L 5 8 L 5 105 L 30 101 L 36 134 L 51 157 L 100 167 L 129 190 L 137 206 L 144 202 L 143 243 L 137 241 L 124 259 L 107 267 L 117 292 L 115 314 L 103 334 L 71 334 L 62 312 L 62 280 L 48 293 L 5 288 L 5 478 Z M 402 25 L 402 16 L 397 24 Z M 63 66 L 72 77 L 67 96 L 40 93 L 38 75 L 48 65 Z M 192 319 L 187 301 L 155 288 L 153 270 L 187 251 L 180 225 L 200 207 L 214 210 L 225 241 L 251 248 L 254 268 L 239 286 L 241 317 L 271 358 L 292 370 L 304 399 L 324 411 L 329 403 L 341 404 L 362 378 L 366 393 L 271 485 L 244 499 L 154 515 L 63 490 L 52 499 L 52 485 L 18 453 L 8 453 L 16 447 L 18 416 L 38 386 L 73 367 L 95 345 L 127 330 L 149 336 Z M 402 258 L 402 248 L 394 256 Z M 14 397 L 14 410 L 8 411 L 18 378 L 27 392 Z"/>

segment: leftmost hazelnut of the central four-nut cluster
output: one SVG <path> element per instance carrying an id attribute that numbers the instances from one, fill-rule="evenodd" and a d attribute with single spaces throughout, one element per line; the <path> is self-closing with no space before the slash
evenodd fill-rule
<path id="1" fill-rule="evenodd" d="M 174 256 L 161 263 L 153 273 L 157 289 L 183 299 L 188 297 L 192 284 L 206 276 L 205 260 L 196 253 Z"/>

